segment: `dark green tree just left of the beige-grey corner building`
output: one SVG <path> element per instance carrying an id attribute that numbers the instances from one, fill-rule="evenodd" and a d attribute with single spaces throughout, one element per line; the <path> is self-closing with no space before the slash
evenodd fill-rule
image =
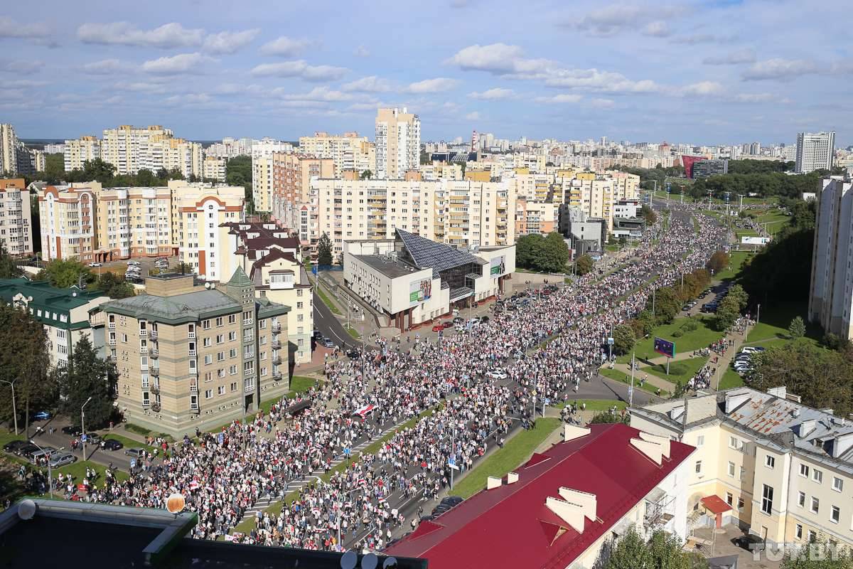
<path id="1" fill-rule="evenodd" d="M 86 400 L 85 413 L 90 430 L 107 424 L 113 415 L 119 374 L 112 362 L 98 357 L 88 336 L 74 345 L 67 366 L 54 370 L 56 384 L 60 386 L 61 409 L 75 427 L 80 427 L 80 408 Z"/>

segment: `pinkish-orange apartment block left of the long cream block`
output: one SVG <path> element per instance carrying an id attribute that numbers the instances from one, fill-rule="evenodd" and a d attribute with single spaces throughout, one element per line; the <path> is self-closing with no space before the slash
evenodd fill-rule
<path id="1" fill-rule="evenodd" d="M 271 160 L 270 211 L 272 217 L 279 220 L 285 227 L 297 228 L 301 223 L 299 212 L 302 206 L 310 204 L 311 179 L 337 177 L 334 160 L 316 158 L 312 154 L 295 153 L 275 153 L 272 154 Z M 307 228 L 305 231 L 307 232 Z"/>

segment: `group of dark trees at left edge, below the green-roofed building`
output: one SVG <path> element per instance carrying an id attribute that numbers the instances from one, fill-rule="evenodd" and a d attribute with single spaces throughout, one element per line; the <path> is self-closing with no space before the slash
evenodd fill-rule
<path id="1" fill-rule="evenodd" d="M 100 427 L 114 413 L 113 401 L 118 371 L 113 363 L 98 357 L 88 337 L 74 346 L 68 365 L 50 369 L 47 334 L 27 311 L 0 305 L 0 421 L 29 432 L 29 420 L 40 410 L 56 410 L 79 426 L 80 407 L 86 406 L 91 427 Z M 15 407 L 12 387 L 15 384 Z"/>

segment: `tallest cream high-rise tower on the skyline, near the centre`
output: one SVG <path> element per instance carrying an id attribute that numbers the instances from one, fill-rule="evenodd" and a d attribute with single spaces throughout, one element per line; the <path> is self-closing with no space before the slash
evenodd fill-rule
<path id="1" fill-rule="evenodd" d="M 406 107 L 376 113 L 376 177 L 401 180 L 421 162 L 421 119 Z"/>

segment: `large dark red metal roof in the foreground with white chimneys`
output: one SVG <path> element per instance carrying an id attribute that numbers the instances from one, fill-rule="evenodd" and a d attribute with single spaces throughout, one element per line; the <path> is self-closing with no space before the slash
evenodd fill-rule
<path id="1" fill-rule="evenodd" d="M 518 482 L 480 491 L 385 553 L 427 558 L 430 569 L 571 565 L 694 450 L 670 442 L 670 458 L 658 465 L 630 445 L 637 429 L 590 428 L 519 467 Z M 545 506 L 560 486 L 595 494 L 597 519 L 586 520 L 581 534 Z"/>

